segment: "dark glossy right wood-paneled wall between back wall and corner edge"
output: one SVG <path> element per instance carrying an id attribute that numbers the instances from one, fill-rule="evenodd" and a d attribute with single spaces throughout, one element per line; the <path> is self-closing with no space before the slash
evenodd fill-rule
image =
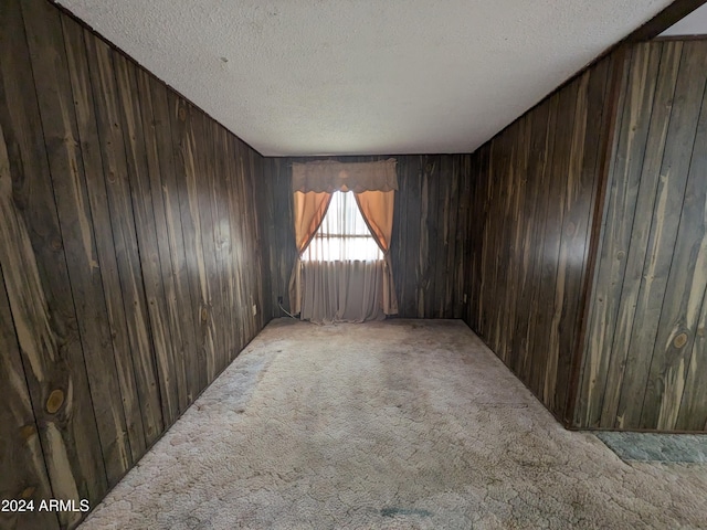
<path id="1" fill-rule="evenodd" d="M 466 321 L 559 418 L 581 356 L 616 61 L 576 77 L 472 159 Z"/>

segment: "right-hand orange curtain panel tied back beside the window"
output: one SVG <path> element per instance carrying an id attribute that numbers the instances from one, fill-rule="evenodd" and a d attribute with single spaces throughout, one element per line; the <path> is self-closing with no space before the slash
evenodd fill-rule
<path id="1" fill-rule="evenodd" d="M 363 191 L 355 193 L 358 209 L 363 220 L 376 239 L 378 246 L 383 251 L 383 312 L 395 315 L 398 312 L 398 297 L 393 283 L 393 268 L 390 259 L 390 240 L 393 231 L 394 191 Z"/>

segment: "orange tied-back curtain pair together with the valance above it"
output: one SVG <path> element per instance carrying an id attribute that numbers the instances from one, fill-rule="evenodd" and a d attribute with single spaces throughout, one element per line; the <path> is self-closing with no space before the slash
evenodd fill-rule
<path id="1" fill-rule="evenodd" d="M 354 191 L 356 202 L 376 243 L 383 252 L 381 264 L 382 310 L 386 315 L 398 312 L 398 299 L 394 292 L 392 266 L 390 259 L 390 241 L 394 190 L 398 189 L 395 159 L 376 162 L 344 163 L 333 160 L 320 160 L 307 163 L 293 163 L 293 194 L 295 216 L 295 239 L 297 258 L 289 278 L 289 300 L 292 311 L 303 314 L 303 262 L 302 253 L 316 234 L 324 220 L 327 208 L 335 191 Z M 312 272 L 339 274 L 336 268 L 309 266 Z M 317 280 L 316 285 L 325 285 L 328 280 Z M 330 283 L 330 280 L 329 280 Z M 367 285 L 371 285 L 370 282 Z M 309 293 L 310 297 L 312 295 Z M 314 300 L 314 298 L 313 298 Z M 312 300 L 312 301 L 313 301 Z M 318 311 L 317 311 L 318 312 Z M 348 311 L 347 311 L 348 314 Z M 376 317 L 372 317 L 376 318 Z"/>

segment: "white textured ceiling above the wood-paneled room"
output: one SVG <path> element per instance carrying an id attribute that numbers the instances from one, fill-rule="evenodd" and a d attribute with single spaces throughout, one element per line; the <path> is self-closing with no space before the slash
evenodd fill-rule
<path id="1" fill-rule="evenodd" d="M 265 156 L 471 152 L 672 0 L 59 0 Z"/>

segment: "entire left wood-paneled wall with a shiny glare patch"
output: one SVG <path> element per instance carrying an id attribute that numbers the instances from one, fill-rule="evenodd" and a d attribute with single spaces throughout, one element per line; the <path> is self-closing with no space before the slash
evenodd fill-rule
<path id="1" fill-rule="evenodd" d="M 263 174 L 49 2 L 0 2 L 0 498 L 95 506 L 262 329 Z"/>

